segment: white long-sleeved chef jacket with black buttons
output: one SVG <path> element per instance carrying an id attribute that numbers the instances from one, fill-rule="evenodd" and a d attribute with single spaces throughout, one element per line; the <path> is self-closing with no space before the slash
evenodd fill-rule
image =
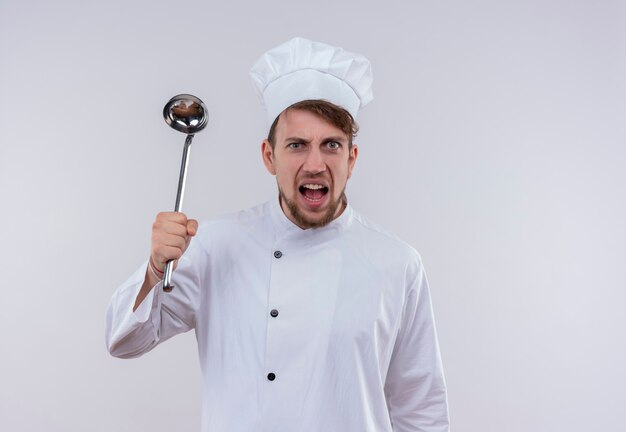
<path id="1" fill-rule="evenodd" d="M 203 222 L 133 312 L 144 263 L 113 295 L 106 343 L 140 356 L 194 329 L 204 432 L 448 431 L 418 253 L 347 206 L 303 230 L 278 200 Z"/>

